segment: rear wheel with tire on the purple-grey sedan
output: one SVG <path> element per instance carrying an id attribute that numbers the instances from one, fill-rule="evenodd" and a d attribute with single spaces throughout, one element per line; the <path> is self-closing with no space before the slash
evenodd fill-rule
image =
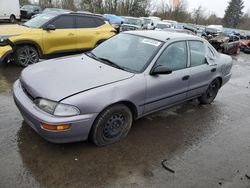
<path id="1" fill-rule="evenodd" d="M 219 79 L 213 80 L 209 84 L 206 92 L 198 98 L 198 101 L 201 104 L 211 104 L 214 101 L 215 97 L 217 96 L 219 89 L 220 89 L 220 80 Z"/>

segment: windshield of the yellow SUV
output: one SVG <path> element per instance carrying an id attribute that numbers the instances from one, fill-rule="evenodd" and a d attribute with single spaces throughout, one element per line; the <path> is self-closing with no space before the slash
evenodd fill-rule
<path id="1" fill-rule="evenodd" d="M 56 17 L 56 15 L 53 14 L 41 14 L 27 22 L 25 22 L 23 25 L 26 27 L 31 28 L 40 28 L 43 24 L 47 23 L 52 18 Z"/>

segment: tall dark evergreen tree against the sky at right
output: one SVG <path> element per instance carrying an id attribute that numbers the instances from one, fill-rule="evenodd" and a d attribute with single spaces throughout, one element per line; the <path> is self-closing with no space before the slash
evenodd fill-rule
<path id="1" fill-rule="evenodd" d="M 223 23 L 225 27 L 236 28 L 243 16 L 244 2 L 243 0 L 230 0 L 225 11 Z"/>

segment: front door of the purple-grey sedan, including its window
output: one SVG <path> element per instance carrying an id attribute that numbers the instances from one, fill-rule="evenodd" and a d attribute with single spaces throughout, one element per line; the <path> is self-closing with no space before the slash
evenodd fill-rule
<path id="1" fill-rule="evenodd" d="M 186 99 L 190 77 L 187 60 L 188 53 L 185 41 L 170 44 L 161 54 L 155 66 L 167 66 L 173 72 L 168 75 L 146 75 L 145 113 Z"/>

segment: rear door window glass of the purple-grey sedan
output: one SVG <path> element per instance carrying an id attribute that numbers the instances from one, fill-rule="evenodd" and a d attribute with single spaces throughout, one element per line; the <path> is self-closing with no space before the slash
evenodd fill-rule
<path id="1" fill-rule="evenodd" d="M 203 42 L 189 41 L 191 52 L 191 67 L 203 65 L 206 63 L 206 50 Z"/>

